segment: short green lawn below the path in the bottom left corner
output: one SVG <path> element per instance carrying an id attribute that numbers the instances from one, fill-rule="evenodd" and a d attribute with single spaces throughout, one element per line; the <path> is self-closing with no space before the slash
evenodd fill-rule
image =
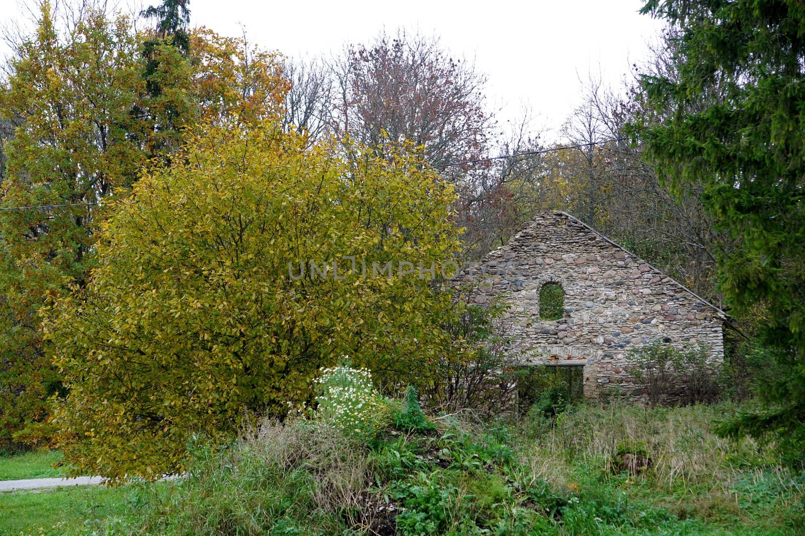
<path id="1" fill-rule="evenodd" d="M 0 493 L 0 536 L 92 534 L 126 506 L 126 489 L 74 486 Z M 85 530 L 89 530 L 85 533 Z"/>

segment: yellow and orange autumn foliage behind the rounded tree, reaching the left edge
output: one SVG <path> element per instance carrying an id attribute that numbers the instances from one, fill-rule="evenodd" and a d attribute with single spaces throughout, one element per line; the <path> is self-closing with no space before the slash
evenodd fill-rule
<path id="1" fill-rule="evenodd" d="M 186 57 L 125 16 L 81 8 L 64 28 L 40 7 L 0 91 L 0 116 L 15 126 L 0 196 L 5 208 L 69 206 L 0 212 L 0 449 L 52 439 L 47 398 L 64 388 L 39 307 L 85 286 L 107 201 L 169 161 L 201 121 L 279 117 L 288 87 L 279 57 L 244 39 L 196 30 Z"/>

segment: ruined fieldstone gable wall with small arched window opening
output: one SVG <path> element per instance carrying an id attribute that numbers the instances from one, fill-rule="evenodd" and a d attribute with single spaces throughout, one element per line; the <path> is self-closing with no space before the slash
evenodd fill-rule
<path id="1" fill-rule="evenodd" d="M 474 303 L 510 305 L 512 348 L 533 365 L 584 365 L 584 395 L 607 386 L 638 397 L 629 350 L 663 340 L 706 344 L 724 359 L 723 311 L 565 212 L 537 216 L 510 241 L 464 270 Z M 539 291 L 564 289 L 564 318 L 539 319 Z"/>

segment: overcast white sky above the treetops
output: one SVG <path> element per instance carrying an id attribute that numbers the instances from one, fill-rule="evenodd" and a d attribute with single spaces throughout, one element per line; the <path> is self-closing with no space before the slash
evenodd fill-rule
<path id="1" fill-rule="evenodd" d="M 523 105 L 535 126 L 556 137 L 592 72 L 619 85 L 630 64 L 645 60 L 646 43 L 661 23 L 638 14 L 640 0 L 531 0 L 454 2 L 442 0 L 189 0 L 191 23 L 223 35 L 242 35 L 286 56 L 328 56 L 345 43 L 365 43 L 384 28 L 398 27 L 440 37 L 453 56 L 474 60 L 489 76 L 488 105 L 502 127 L 516 121 Z M 123 0 L 122 5 L 160 0 Z M 0 0 L 2 22 L 26 18 L 22 3 Z M 136 8 L 135 8 L 136 9 Z"/>

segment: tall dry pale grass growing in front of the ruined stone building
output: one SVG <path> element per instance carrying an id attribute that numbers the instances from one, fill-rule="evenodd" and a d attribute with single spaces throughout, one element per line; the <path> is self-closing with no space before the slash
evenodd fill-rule
<path id="1" fill-rule="evenodd" d="M 803 486 L 779 463 L 774 445 L 716 435 L 716 424 L 734 410 L 729 403 L 580 406 L 559 414 L 553 427 L 539 416 L 526 419 L 519 453 L 530 480 L 576 489 L 580 480 L 623 478 L 618 455 L 638 452 L 650 458 L 651 467 L 627 482 L 667 497 L 665 505 L 680 515 L 738 516 L 739 506 L 759 502 L 753 493 L 774 489 L 791 491 L 775 507 L 796 508 Z"/>

